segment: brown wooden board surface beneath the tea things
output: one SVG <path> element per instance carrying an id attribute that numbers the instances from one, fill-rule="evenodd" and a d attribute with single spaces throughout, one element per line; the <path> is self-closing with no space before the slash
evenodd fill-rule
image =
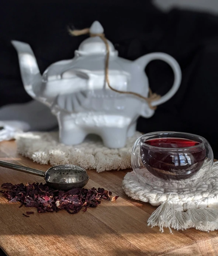
<path id="1" fill-rule="evenodd" d="M 0 160 L 44 171 L 50 167 L 18 155 L 14 141 L 0 143 Z M 120 197 L 75 215 L 65 210 L 40 214 L 35 208 L 18 208 L 19 203 L 8 203 L 0 195 L 1 249 L 10 256 L 218 255 L 218 231 L 188 229 L 170 234 L 168 229 L 160 233 L 157 227 L 148 227 L 148 217 L 156 207 L 124 194 L 122 179 L 129 171 L 88 171 L 87 188 L 104 187 Z M 0 167 L 0 184 L 43 181 Z M 27 218 L 22 215 L 27 210 L 35 213 Z"/>

